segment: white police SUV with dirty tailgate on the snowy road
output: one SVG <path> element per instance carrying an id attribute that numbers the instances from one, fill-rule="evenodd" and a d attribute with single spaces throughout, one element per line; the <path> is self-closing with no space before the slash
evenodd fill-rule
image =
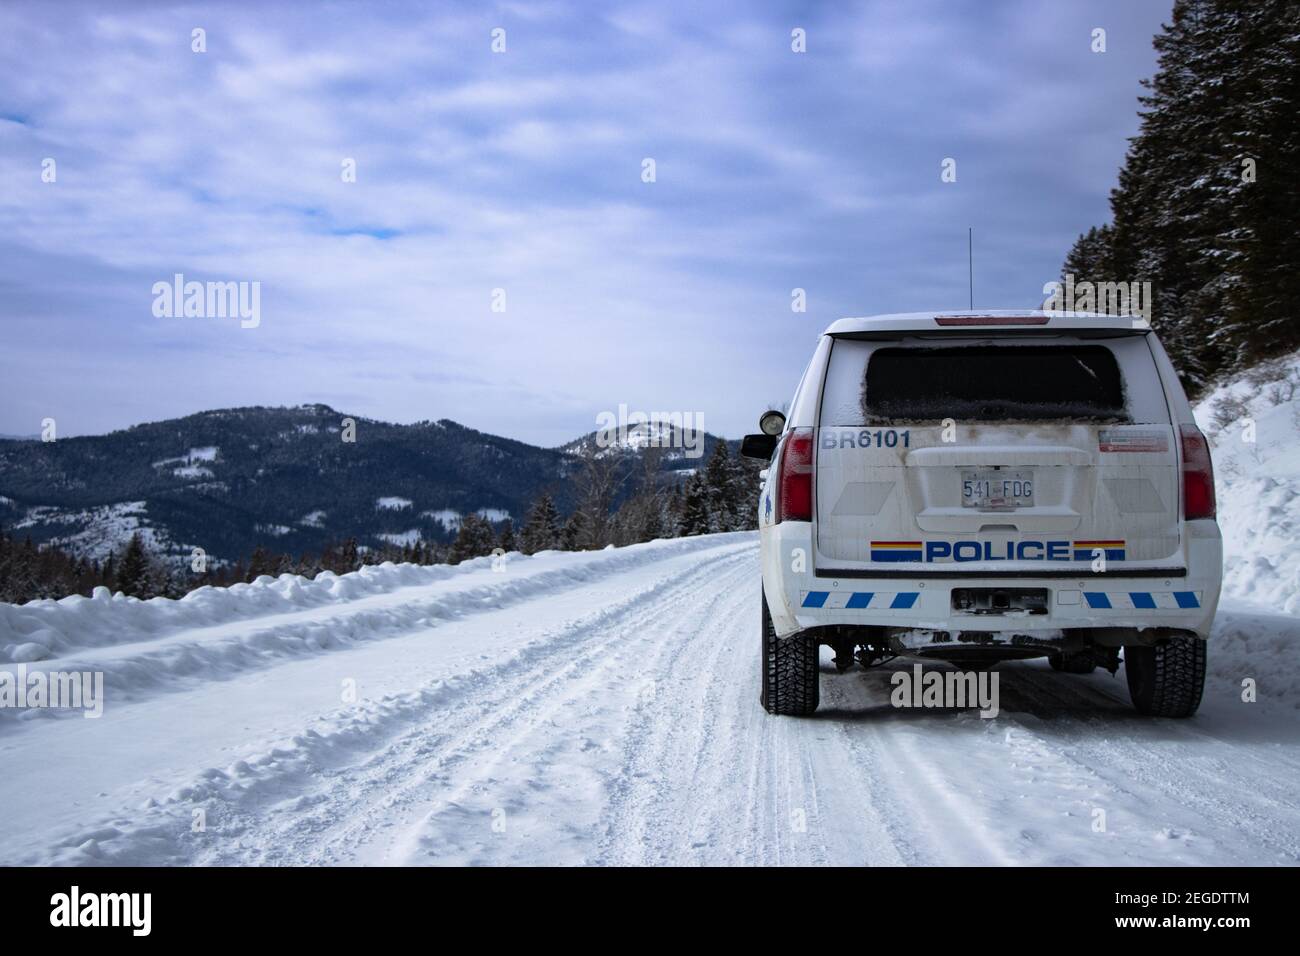
<path id="1" fill-rule="evenodd" d="M 1222 544 L 1209 446 L 1147 324 L 1076 312 L 841 319 L 742 453 L 759 499 L 763 706 L 818 659 L 1114 672 L 1188 717 Z"/>

